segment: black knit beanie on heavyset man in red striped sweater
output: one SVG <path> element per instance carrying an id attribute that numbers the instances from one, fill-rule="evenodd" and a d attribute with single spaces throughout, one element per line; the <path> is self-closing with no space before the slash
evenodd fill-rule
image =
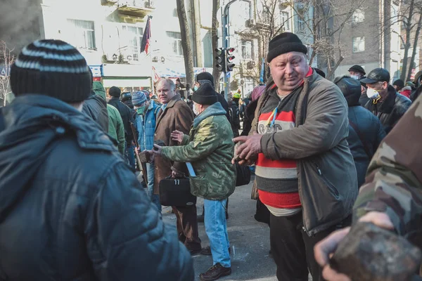
<path id="1" fill-rule="evenodd" d="M 271 63 L 273 58 L 288 52 L 300 52 L 306 54 L 307 47 L 302 44 L 302 41 L 300 41 L 296 34 L 283 32 L 269 41 L 267 62 Z"/>

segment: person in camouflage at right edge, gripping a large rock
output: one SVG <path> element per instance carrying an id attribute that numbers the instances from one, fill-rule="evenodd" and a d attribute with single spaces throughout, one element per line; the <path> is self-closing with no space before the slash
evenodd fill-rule
<path id="1" fill-rule="evenodd" d="M 354 204 L 354 222 L 367 221 L 395 230 L 422 249 L 422 97 L 419 97 L 384 138 L 374 155 Z M 403 136 L 413 145 L 403 145 Z M 324 278 L 350 280 L 328 265 L 328 256 L 349 232 L 333 233 L 315 247 Z"/>

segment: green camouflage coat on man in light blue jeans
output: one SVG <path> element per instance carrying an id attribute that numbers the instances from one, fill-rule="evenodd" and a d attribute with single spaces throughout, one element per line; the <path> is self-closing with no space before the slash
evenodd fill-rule
<path id="1" fill-rule="evenodd" d="M 162 157 L 176 162 L 191 162 L 191 193 L 207 200 L 223 200 L 234 192 L 236 169 L 233 131 L 220 103 L 208 107 L 193 120 L 189 136 L 181 146 L 162 148 Z"/>

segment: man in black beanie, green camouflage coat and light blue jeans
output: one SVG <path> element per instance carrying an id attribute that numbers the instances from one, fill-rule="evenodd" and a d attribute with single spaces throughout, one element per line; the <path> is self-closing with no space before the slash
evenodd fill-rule
<path id="1" fill-rule="evenodd" d="M 217 280 L 231 274 L 229 237 L 227 236 L 225 205 L 234 192 L 236 171 L 231 164 L 234 143 L 226 111 L 217 102 L 217 95 L 209 83 L 193 93 L 196 118 L 190 133 L 172 132 L 172 140 L 180 146 L 160 147 L 155 154 L 162 158 L 191 162 L 196 176 L 191 175 L 193 195 L 204 198 L 205 231 L 210 239 L 213 266 L 200 274 L 200 280 Z"/>

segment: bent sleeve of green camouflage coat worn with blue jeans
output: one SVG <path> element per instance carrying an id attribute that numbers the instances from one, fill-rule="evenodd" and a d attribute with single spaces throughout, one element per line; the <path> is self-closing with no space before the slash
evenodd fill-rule
<path id="1" fill-rule="evenodd" d="M 162 157 L 178 162 L 194 162 L 203 159 L 214 152 L 220 143 L 222 132 L 212 122 L 202 122 L 187 145 L 165 146 L 162 148 Z"/>

